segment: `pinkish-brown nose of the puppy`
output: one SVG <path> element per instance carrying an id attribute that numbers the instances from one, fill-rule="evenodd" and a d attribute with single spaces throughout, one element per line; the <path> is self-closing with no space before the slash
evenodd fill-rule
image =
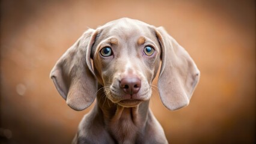
<path id="1" fill-rule="evenodd" d="M 124 77 L 120 81 L 120 87 L 126 94 L 136 94 L 141 88 L 141 80 L 138 77 Z"/>

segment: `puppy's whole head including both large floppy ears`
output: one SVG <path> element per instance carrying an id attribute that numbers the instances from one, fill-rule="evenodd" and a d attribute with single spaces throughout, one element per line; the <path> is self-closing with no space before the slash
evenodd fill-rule
<path id="1" fill-rule="evenodd" d="M 139 20 L 123 18 L 88 29 L 59 58 L 50 77 L 72 109 L 90 106 L 98 85 L 113 103 L 133 107 L 150 98 L 160 60 L 162 103 L 170 110 L 187 106 L 200 78 L 197 65 L 162 27 Z"/>

